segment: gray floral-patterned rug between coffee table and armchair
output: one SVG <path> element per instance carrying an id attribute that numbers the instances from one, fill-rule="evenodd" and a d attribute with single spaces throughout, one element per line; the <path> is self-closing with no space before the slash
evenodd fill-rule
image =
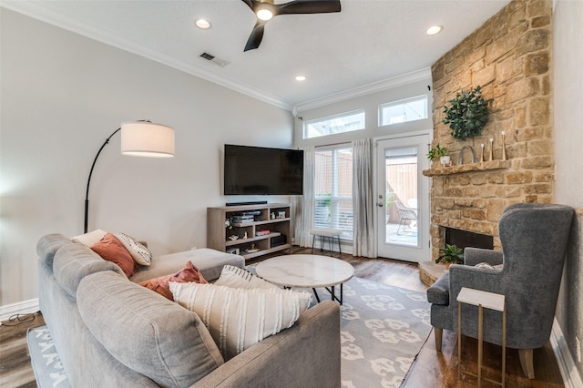
<path id="1" fill-rule="evenodd" d="M 401 386 L 431 331 L 425 294 L 360 278 L 343 288 L 343 387 Z M 330 297 L 317 291 L 321 300 Z"/>

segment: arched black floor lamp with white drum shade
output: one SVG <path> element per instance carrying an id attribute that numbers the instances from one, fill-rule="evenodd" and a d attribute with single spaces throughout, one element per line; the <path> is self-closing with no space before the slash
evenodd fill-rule
<path id="1" fill-rule="evenodd" d="M 121 127 L 116 129 L 109 138 L 101 145 L 97 155 L 93 160 L 87 179 L 87 191 L 85 194 L 85 233 L 87 233 L 87 220 L 89 213 L 89 185 L 91 175 L 99 154 L 109 139 L 121 130 L 121 153 L 132 157 L 146 158 L 173 158 L 174 157 L 174 128 L 154 124 L 148 120 L 131 121 L 122 123 Z"/>

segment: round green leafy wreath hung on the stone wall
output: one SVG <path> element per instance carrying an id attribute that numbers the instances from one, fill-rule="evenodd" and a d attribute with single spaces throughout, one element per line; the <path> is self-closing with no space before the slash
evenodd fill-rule
<path id="1" fill-rule="evenodd" d="M 488 104 L 493 98 L 484 99 L 481 87 L 462 90 L 444 107 L 444 124 L 449 124 L 452 136 L 458 140 L 474 138 L 482 132 L 488 121 Z"/>

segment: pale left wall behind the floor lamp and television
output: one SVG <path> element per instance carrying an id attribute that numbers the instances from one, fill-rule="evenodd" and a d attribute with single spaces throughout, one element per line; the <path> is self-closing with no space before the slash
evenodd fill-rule
<path id="1" fill-rule="evenodd" d="M 119 135 L 112 138 L 91 181 L 89 230 L 127 232 L 154 254 L 206 246 L 206 208 L 253 199 L 222 196 L 224 143 L 292 146 L 293 117 L 284 109 L 0 13 L 0 305 L 37 297 L 39 237 L 83 231 L 91 162 L 121 122 L 175 128 L 176 157 L 121 156 Z"/>

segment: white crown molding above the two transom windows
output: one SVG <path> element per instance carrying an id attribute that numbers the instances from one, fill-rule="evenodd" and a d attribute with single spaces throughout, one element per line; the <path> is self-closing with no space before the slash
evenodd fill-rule
<path id="1" fill-rule="evenodd" d="M 400 87 L 427 78 L 431 79 L 430 67 L 425 67 L 420 70 L 413 71 L 411 73 L 406 73 L 402 76 L 384 79 L 382 81 L 364 85 L 363 87 L 355 87 L 353 89 L 345 90 L 343 92 L 336 93 L 328 97 L 313 99 L 312 101 L 307 101 L 296 105 L 295 107 L 293 107 L 292 111 L 295 113 L 299 113 L 304 110 L 313 109 L 315 107 L 323 107 L 326 105 L 345 101 L 347 99 L 351 99 L 354 97 L 370 95 L 376 92 L 381 92 L 393 87 Z"/>

